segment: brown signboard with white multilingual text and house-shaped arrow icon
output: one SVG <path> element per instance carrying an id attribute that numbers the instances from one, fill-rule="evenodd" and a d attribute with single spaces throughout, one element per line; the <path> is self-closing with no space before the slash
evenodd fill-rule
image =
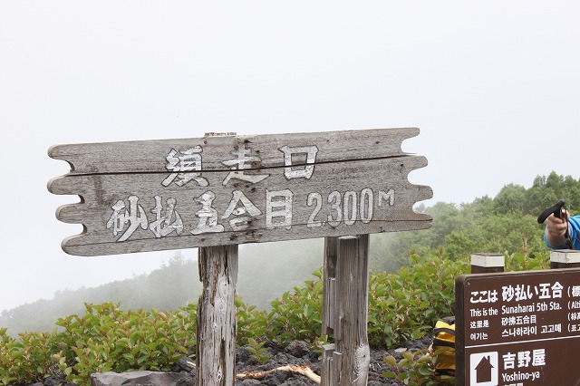
<path id="1" fill-rule="evenodd" d="M 580 269 L 461 275 L 456 384 L 580 384 Z"/>

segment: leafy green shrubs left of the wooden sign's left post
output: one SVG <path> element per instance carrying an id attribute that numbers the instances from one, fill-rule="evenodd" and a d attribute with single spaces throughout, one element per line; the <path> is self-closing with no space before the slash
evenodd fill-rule
<path id="1" fill-rule="evenodd" d="M 0 330 L 0 384 L 42 381 L 52 372 L 88 384 L 93 372 L 168 371 L 194 345 L 193 304 L 176 313 L 124 312 L 112 303 L 85 307 L 83 316 L 60 318 L 58 332 L 20 333 L 14 340 Z"/>

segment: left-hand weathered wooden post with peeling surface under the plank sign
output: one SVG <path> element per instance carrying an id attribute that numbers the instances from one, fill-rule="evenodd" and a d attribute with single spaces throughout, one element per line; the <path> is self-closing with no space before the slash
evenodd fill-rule
<path id="1" fill-rule="evenodd" d="M 236 382 L 237 245 L 206 246 L 198 252 L 203 294 L 198 304 L 198 386 Z"/>

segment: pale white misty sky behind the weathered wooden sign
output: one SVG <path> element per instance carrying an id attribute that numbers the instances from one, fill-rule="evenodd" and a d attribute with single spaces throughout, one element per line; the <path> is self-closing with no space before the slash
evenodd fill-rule
<path id="1" fill-rule="evenodd" d="M 54 217 L 78 201 L 46 189 L 69 171 L 47 156 L 55 144 L 413 126 L 420 135 L 403 150 L 429 160 L 410 175 L 433 189 L 427 206 L 552 170 L 577 179 L 579 11 L 573 1 L 0 3 L 0 311 L 197 256 L 64 254 L 82 227 Z M 240 248 L 239 280 L 260 248 L 273 265 L 295 263 L 268 247 Z"/>

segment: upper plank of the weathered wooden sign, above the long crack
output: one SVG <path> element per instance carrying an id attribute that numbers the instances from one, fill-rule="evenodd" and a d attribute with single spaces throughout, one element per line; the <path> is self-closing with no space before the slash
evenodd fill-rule
<path id="1" fill-rule="evenodd" d="M 285 166 L 285 155 L 291 150 L 314 150 L 315 163 L 344 159 L 373 159 L 398 157 L 403 140 L 419 134 L 417 128 L 344 130 L 314 133 L 289 133 L 266 135 L 215 136 L 208 133 L 203 138 L 178 140 L 135 140 L 123 142 L 83 143 L 55 145 L 48 150 L 53 159 L 62 159 L 71 165 L 69 174 L 108 173 L 161 173 L 168 174 L 167 157 L 198 160 L 198 171 L 227 170 L 225 161 L 236 159 L 232 152 L 247 150 L 248 156 L 257 159 L 248 162 L 249 169 Z M 287 148 L 286 148 L 287 147 Z M 249 151 L 251 150 L 251 151 Z M 295 165 L 305 164 L 307 152 L 294 152 Z M 259 160 L 258 160 L 259 159 Z"/>

